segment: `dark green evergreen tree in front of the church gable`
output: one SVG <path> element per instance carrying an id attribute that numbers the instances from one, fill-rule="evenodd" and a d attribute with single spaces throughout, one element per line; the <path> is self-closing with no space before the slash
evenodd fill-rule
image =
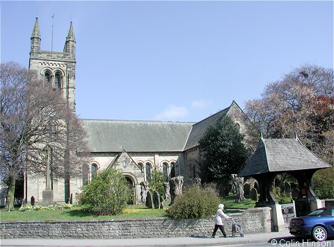
<path id="1" fill-rule="evenodd" d="M 200 178 L 226 186 L 231 174 L 244 168 L 247 152 L 244 135 L 228 116 L 210 126 L 200 138 Z"/>

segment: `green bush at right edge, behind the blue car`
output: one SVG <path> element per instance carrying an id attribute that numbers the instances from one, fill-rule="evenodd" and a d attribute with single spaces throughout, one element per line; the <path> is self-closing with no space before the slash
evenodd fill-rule
<path id="1" fill-rule="evenodd" d="M 316 171 L 312 177 L 312 187 L 319 199 L 333 199 L 334 167 Z"/>

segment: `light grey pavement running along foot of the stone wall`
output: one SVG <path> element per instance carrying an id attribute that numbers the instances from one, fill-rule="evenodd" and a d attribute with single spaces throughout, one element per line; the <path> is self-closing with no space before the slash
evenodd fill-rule
<path id="1" fill-rule="evenodd" d="M 266 244 L 273 246 L 278 244 L 280 239 L 293 239 L 287 228 L 280 232 L 245 234 L 244 237 L 232 235 L 224 238 L 216 235 L 193 237 L 162 237 L 162 238 L 141 238 L 141 239 L 0 239 L 0 246 L 237 246 L 242 244 Z M 276 241 L 276 242 L 275 242 Z"/>

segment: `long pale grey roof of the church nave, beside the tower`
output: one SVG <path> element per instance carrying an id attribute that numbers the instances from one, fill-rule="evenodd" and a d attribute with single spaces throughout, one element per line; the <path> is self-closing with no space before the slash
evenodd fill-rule
<path id="1" fill-rule="evenodd" d="M 183 151 L 193 123 L 81 119 L 91 152 Z"/>

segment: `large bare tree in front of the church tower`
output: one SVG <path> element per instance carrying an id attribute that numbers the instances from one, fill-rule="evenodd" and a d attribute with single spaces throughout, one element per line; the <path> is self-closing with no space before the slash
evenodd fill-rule
<path id="1" fill-rule="evenodd" d="M 46 174 L 47 151 L 54 178 L 79 178 L 89 162 L 86 133 L 61 92 L 33 78 L 15 62 L 0 65 L 1 177 L 13 207 L 15 182 Z"/>

